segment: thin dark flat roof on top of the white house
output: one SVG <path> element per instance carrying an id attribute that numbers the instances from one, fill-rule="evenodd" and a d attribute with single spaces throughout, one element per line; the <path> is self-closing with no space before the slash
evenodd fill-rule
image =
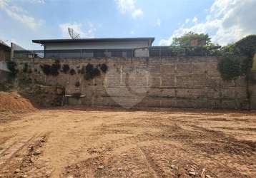
<path id="1" fill-rule="evenodd" d="M 87 42 L 112 42 L 112 41 L 149 41 L 151 44 L 154 41 L 153 37 L 145 38 L 80 38 L 80 39 L 46 39 L 32 40 L 33 43 L 87 43 Z"/>

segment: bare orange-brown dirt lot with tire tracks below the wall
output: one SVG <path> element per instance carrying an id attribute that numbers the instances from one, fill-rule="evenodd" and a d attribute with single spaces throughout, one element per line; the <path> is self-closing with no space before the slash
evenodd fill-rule
<path id="1" fill-rule="evenodd" d="M 255 112 L 64 108 L 15 118 L 0 122 L 0 177 L 256 177 Z"/>

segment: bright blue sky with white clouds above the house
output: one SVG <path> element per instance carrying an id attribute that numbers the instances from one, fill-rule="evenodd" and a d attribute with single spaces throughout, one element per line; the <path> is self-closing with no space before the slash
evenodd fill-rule
<path id="1" fill-rule="evenodd" d="M 226 45 L 256 33 L 256 0 L 0 0 L 0 39 L 155 37 L 166 46 L 189 31 Z"/>

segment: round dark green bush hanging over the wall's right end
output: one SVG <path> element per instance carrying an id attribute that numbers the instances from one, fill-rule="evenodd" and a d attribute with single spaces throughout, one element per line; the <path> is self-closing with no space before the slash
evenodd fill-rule
<path id="1" fill-rule="evenodd" d="M 223 80 L 233 80 L 242 75 L 241 58 L 227 56 L 218 63 L 218 70 Z"/>

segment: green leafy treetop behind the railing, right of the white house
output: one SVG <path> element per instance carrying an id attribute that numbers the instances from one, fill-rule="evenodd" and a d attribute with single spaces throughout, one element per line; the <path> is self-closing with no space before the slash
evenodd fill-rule
<path id="1" fill-rule="evenodd" d="M 190 41 L 193 39 L 198 39 L 198 41 L 206 40 L 207 45 L 212 44 L 211 38 L 207 34 L 189 32 L 183 36 L 173 38 L 172 46 L 190 46 Z"/>

